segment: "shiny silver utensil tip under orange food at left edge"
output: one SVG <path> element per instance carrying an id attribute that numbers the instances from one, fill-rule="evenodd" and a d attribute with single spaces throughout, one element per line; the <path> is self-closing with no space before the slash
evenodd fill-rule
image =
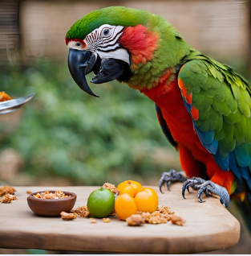
<path id="1" fill-rule="evenodd" d="M 30 93 L 25 97 L 18 97 L 10 101 L 0 102 L 0 114 L 7 114 L 19 109 L 23 104 L 30 101 L 34 97 L 35 93 Z"/>

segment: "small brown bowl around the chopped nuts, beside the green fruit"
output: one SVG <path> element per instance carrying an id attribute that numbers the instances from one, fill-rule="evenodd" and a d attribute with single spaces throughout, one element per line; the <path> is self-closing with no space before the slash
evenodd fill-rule
<path id="1" fill-rule="evenodd" d="M 40 216 L 60 216 L 61 212 L 70 212 L 73 209 L 77 196 L 73 192 L 65 192 L 66 198 L 59 199 L 41 199 L 36 198 L 33 195 L 37 193 L 43 193 L 45 191 L 34 192 L 27 197 L 27 203 L 30 209 Z M 54 191 L 49 190 L 49 192 L 54 193 Z"/>

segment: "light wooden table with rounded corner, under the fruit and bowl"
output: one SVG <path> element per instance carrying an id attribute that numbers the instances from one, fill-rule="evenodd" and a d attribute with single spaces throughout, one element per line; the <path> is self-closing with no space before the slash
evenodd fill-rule
<path id="1" fill-rule="evenodd" d="M 181 196 L 182 184 L 173 184 L 164 194 L 156 189 L 159 204 L 166 205 L 183 217 L 184 226 L 144 224 L 128 226 L 117 217 L 109 223 L 77 217 L 63 221 L 60 217 L 38 217 L 28 207 L 26 191 L 62 190 L 75 192 L 75 208 L 87 204 L 87 197 L 98 187 L 15 187 L 17 200 L 0 204 L 0 248 L 36 248 L 86 252 L 187 254 L 218 250 L 237 244 L 240 224 L 220 201 L 203 198 L 200 204 L 196 192 Z"/>

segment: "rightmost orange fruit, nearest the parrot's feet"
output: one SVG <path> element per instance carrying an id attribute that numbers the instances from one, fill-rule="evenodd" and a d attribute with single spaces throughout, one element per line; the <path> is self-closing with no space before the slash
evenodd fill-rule
<path id="1" fill-rule="evenodd" d="M 158 195 L 152 188 L 142 188 L 135 196 L 135 203 L 138 211 L 153 213 L 158 209 Z"/>

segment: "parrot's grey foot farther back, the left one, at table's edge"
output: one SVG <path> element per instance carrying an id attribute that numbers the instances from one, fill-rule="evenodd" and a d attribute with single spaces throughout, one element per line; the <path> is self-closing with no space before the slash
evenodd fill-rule
<path id="1" fill-rule="evenodd" d="M 184 182 L 185 180 L 187 180 L 187 178 L 185 178 L 184 171 L 175 171 L 173 169 L 168 172 L 165 171 L 162 173 L 159 181 L 160 192 L 163 193 L 161 190 L 163 184 L 166 184 L 168 190 L 170 191 L 170 184 L 175 183 L 176 181 Z"/>

